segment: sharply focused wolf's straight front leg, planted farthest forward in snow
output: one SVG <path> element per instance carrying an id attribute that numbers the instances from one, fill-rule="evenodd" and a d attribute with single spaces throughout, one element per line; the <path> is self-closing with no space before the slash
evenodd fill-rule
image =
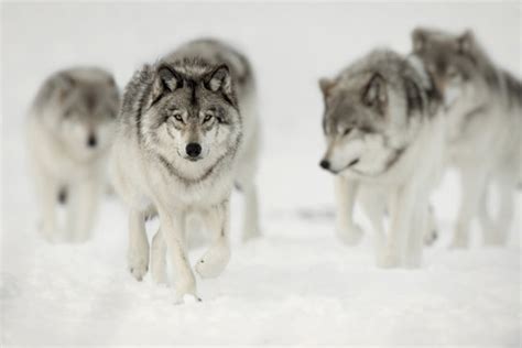
<path id="1" fill-rule="evenodd" d="M 172 211 L 164 207 L 157 207 L 160 214 L 160 226 L 166 242 L 167 255 L 171 258 L 173 268 L 174 287 L 176 289 L 176 303 L 182 303 L 185 295 L 196 298 L 196 280 L 192 272 L 186 254 L 184 240 L 185 213 Z"/>

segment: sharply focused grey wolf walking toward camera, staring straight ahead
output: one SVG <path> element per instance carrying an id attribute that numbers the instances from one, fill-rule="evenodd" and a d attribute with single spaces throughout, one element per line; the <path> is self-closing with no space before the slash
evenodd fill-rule
<path id="1" fill-rule="evenodd" d="M 129 270 L 138 281 L 146 273 L 144 220 L 157 214 L 151 274 L 166 281 L 168 252 L 177 303 L 199 300 L 186 252 L 188 217 L 202 217 L 211 233 L 208 251 L 195 264 L 202 278 L 219 275 L 229 261 L 235 185 L 247 196 L 244 238 L 258 232 L 254 98 L 247 58 L 217 40 L 182 45 L 144 65 L 126 87 L 110 172 L 130 210 Z"/>

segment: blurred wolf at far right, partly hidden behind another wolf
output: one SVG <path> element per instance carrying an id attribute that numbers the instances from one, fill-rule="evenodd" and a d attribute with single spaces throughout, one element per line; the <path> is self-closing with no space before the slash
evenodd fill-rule
<path id="1" fill-rule="evenodd" d="M 417 28 L 412 43 L 443 96 L 447 163 L 461 180 L 452 247 L 469 244 L 475 217 L 485 244 L 503 244 L 513 220 L 514 187 L 521 180 L 522 83 L 497 67 L 469 30 L 452 34 Z M 500 197 L 497 216 L 488 209 L 493 184 Z"/>

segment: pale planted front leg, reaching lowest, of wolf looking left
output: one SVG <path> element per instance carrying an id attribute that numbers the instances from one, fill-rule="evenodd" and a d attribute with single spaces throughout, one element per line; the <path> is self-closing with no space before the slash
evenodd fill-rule
<path id="1" fill-rule="evenodd" d="M 390 197 L 390 232 L 382 258 L 383 268 L 399 267 L 404 254 L 404 244 L 412 227 L 415 192 L 407 185 L 399 187 Z"/>

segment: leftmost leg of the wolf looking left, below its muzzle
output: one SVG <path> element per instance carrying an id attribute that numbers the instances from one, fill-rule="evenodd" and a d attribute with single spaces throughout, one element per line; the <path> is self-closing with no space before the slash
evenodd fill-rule
<path id="1" fill-rule="evenodd" d="M 354 206 L 359 184 L 356 181 L 335 177 L 335 197 L 337 204 L 336 232 L 342 242 L 352 246 L 359 242 L 362 231 L 354 224 Z"/>

